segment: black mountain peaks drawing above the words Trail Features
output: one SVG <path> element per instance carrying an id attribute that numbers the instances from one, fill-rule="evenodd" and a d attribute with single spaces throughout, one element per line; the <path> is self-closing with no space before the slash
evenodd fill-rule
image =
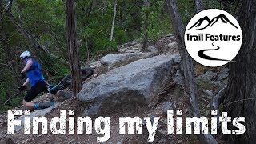
<path id="1" fill-rule="evenodd" d="M 207 16 L 200 18 L 198 22 L 195 22 L 193 26 L 191 26 L 188 30 L 196 27 L 196 30 L 204 30 L 208 26 L 214 26 L 214 24 L 218 21 L 221 21 L 222 23 L 230 24 L 231 26 L 234 26 L 236 29 L 238 29 L 237 26 L 235 26 L 232 22 L 230 22 L 229 18 L 226 17 L 224 14 L 219 14 L 217 17 L 214 17 L 212 20 L 208 18 Z M 201 26 L 202 22 L 207 22 L 208 24 L 206 26 Z"/>

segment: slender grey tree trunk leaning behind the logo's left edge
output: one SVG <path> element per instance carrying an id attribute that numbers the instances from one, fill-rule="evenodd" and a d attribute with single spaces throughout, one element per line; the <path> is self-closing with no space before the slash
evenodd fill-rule
<path id="1" fill-rule="evenodd" d="M 180 18 L 180 14 L 178 13 L 178 7 L 176 6 L 175 0 L 166 0 L 168 11 L 170 14 L 171 24 L 174 28 L 174 34 L 176 40 L 178 42 L 178 51 L 181 55 L 181 69 L 184 75 L 185 80 L 185 91 L 186 94 L 190 97 L 190 106 L 191 111 L 194 117 L 200 117 L 199 106 L 197 102 L 197 87 L 194 81 L 194 66 L 190 55 L 187 53 L 185 49 L 184 42 L 184 26 L 182 23 L 182 19 Z M 198 135 L 198 138 L 202 143 L 216 143 L 217 141 L 211 134 L 201 134 Z"/>

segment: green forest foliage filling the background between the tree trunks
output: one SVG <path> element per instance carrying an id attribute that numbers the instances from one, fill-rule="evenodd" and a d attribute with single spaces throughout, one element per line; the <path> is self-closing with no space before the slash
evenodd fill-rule
<path id="1" fill-rule="evenodd" d="M 7 5 L 7 1 L 2 1 Z M 14 18 L 30 34 L 37 38 L 43 46 L 54 54 L 55 57 L 45 54 L 34 47 L 34 42 L 26 39 L 7 15 L 3 7 L 0 7 L 0 104 L 10 95 L 15 94 L 16 88 L 22 84 L 19 74 L 22 70 L 22 62 L 18 61 L 19 54 L 24 50 L 30 50 L 33 56 L 42 66 L 43 74 L 50 82 L 57 82 L 69 73 L 69 61 L 66 46 L 65 27 L 65 1 L 62 0 L 18 0 L 14 1 L 12 13 Z M 110 29 L 112 26 L 114 4 L 112 0 L 77 0 L 77 40 L 79 58 L 82 66 L 88 59 L 98 58 L 103 54 L 117 51 L 117 46 L 142 39 L 144 31 L 144 16 L 148 14 L 148 37 L 150 42 L 166 34 L 173 33 L 170 26 L 170 18 L 167 13 L 166 1 L 150 1 L 150 7 L 144 6 L 144 1 L 118 0 L 117 14 L 114 25 L 114 40 L 110 41 Z M 178 2 L 182 21 L 186 23 L 195 14 L 194 1 L 180 0 Z M 240 6 L 239 1 L 230 2 L 228 5 L 220 5 L 218 0 L 203 0 L 203 6 L 207 8 L 226 9 L 235 14 Z M 206 83 L 200 82 L 200 86 Z M 207 86 L 206 86 L 207 87 Z M 14 98 L 8 106 L 17 106 L 22 97 Z M 6 107 L 5 107 L 6 108 Z M 5 109 L 2 107 L 2 109 Z"/>

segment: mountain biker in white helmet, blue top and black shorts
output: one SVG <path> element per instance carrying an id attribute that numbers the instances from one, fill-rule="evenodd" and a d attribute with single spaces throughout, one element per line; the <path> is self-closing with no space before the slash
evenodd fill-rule
<path id="1" fill-rule="evenodd" d="M 31 102 L 41 92 L 48 92 L 46 83 L 42 76 L 41 66 L 34 58 L 31 57 L 29 51 L 24 51 L 20 55 L 20 58 L 24 61 L 25 64 L 25 67 L 21 73 L 26 73 L 27 78 L 26 82 L 24 82 L 22 86 L 18 87 L 18 90 L 26 89 L 26 85 L 30 82 L 30 90 L 27 92 L 25 98 L 23 99 L 23 105 L 28 106 L 30 109 L 50 107 L 50 102 Z M 57 90 L 52 90 L 50 92 L 56 96 L 59 96 L 60 94 L 60 91 Z"/>

